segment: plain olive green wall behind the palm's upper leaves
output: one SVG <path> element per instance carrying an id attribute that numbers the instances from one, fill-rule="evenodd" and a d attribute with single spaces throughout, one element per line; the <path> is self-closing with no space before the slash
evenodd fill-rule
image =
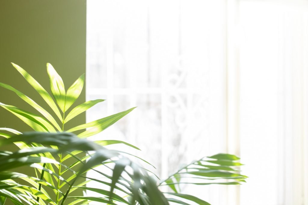
<path id="1" fill-rule="evenodd" d="M 10 62 L 21 66 L 50 91 L 46 72 L 46 63 L 49 62 L 62 76 L 67 89 L 85 73 L 86 1 L 0 0 L 0 82 L 10 84 L 42 107 L 49 108 Z M 83 90 L 75 105 L 84 100 Z M 0 102 L 35 112 L 16 94 L 2 87 Z M 80 115 L 72 123 L 85 123 L 85 115 Z M 3 108 L 0 109 L 0 127 L 31 130 Z"/>

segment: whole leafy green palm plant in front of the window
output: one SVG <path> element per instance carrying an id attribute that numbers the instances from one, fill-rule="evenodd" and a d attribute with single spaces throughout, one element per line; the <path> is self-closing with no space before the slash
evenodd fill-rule
<path id="1" fill-rule="evenodd" d="M 68 121 L 103 102 L 103 99 L 91 100 L 70 109 L 83 89 L 84 74 L 66 91 L 62 78 L 53 66 L 47 63 L 54 101 L 30 74 L 20 66 L 14 63 L 12 65 L 42 96 L 58 119 L 22 92 L 0 83 L 0 86 L 13 91 L 39 112 L 37 115 L 0 102 L 1 107 L 34 130 L 22 134 L 13 129 L 0 128 L 0 136 L 4 137 L 0 140 L 0 146 L 14 143 L 19 148 L 15 152 L 0 151 L 0 205 L 6 200 L 14 204 L 54 205 L 90 202 L 140 205 L 162 205 L 169 202 L 209 204 L 195 196 L 181 193 L 181 187 L 185 184 L 238 185 L 245 182 L 246 176 L 241 175 L 237 169 L 242 165 L 237 162 L 239 158 L 229 154 L 217 154 L 193 161 L 165 180 L 154 177 L 156 175 L 125 157 L 123 152 L 106 148 L 107 145 L 118 143 L 135 149 L 138 149 L 137 147 L 118 140 L 92 142 L 86 139 L 111 126 L 134 108 L 67 129 L 65 125 Z M 76 131 L 79 131 L 79 134 L 74 134 Z M 82 153 L 86 155 L 80 155 Z M 21 166 L 32 167 L 34 174 L 12 171 Z M 104 171 L 97 169 L 98 166 L 104 167 Z M 89 170 L 94 170 L 101 177 L 91 178 L 86 175 Z M 24 183 L 20 184 L 16 179 L 23 180 Z M 78 182 L 77 179 L 84 180 Z M 100 183 L 103 188 L 86 186 L 91 181 Z M 168 186 L 170 191 L 160 191 L 162 186 Z M 100 196 L 76 195 L 76 190 L 93 191 Z M 68 201 L 69 198 L 74 201 Z"/>

